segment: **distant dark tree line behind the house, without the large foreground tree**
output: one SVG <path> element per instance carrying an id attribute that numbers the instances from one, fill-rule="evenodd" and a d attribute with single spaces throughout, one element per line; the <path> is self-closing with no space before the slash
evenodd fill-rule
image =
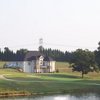
<path id="1" fill-rule="evenodd" d="M 88 49 L 86 49 L 85 51 L 87 54 L 89 52 L 94 54 L 94 58 L 95 61 L 98 65 L 100 65 L 100 42 L 98 43 L 98 48 L 95 51 L 89 51 Z M 24 59 L 26 53 L 29 50 L 27 49 L 20 49 L 17 50 L 16 52 L 13 52 L 12 50 L 10 50 L 8 47 L 4 48 L 4 51 L 0 50 L 0 61 L 21 61 Z M 80 55 L 84 52 L 84 50 L 82 49 L 77 49 L 76 51 L 73 52 L 69 52 L 69 51 L 60 51 L 60 50 L 52 50 L 51 48 L 45 49 L 43 48 L 42 52 L 44 55 L 52 57 L 55 61 L 64 61 L 64 62 L 69 62 L 72 63 L 75 61 L 76 57 L 75 54 Z"/>

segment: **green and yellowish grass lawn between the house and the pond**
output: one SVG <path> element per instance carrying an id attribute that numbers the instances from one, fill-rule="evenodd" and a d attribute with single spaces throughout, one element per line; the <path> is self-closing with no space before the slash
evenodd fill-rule
<path id="1" fill-rule="evenodd" d="M 61 66 L 60 62 L 57 64 Z M 80 73 L 67 69 L 63 73 L 22 73 L 15 69 L 0 69 L 0 74 L 7 78 L 0 78 L 0 93 L 100 93 L 100 73 L 89 73 L 82 79 Z"/>

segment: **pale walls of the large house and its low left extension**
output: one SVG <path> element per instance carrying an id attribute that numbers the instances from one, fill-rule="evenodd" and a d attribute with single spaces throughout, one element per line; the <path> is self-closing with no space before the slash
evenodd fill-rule
<path id="1" fill-rule="evenodd" d="M 47 68 L 47 66 L 50 66 L 50 70 L 48 69 L 46 72 L 55 72 L 55 61 L 45 61 L 43 66 L 40 66 L 41 69 L 35 69 L 36 64 L 39 65 L 39 61 L 13 61 L 13 62 L 7 62 L 7 67 L 11 67 L 11 68 L 21 68 L 23 70 L 23 72 L 28 72 L 28 73 L 32 73 L 32 72 L 45 72 L 44 69 L 42 68 Z"/>

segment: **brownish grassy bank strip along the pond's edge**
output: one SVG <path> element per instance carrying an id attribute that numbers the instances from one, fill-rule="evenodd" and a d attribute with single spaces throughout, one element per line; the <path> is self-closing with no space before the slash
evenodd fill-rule
<path id="1" fill-rule="evenodd" d="M 43 95 L 58 95 L 58 94 L 87 94 L 87 93 L 99 93 L 98 91 L 90 91 L 90 90 L 63 90 L 63 91 L 57 91 L 57 92 L 38 92 L 38 93 L 28 93 L 28 92 L 17 92 L 17 93 L 8 93 L 8 92 L 3 92 L 0 93 L 0 98 L 7 98 L 7 97 L 24 97 L 24 96 L 43 96 Z"/>

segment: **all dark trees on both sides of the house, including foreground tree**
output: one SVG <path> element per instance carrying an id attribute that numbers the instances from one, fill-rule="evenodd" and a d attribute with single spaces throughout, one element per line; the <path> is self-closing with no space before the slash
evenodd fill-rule
<path id="1" fill-rule="evenodd" d="M 51 48 L 42 48 L 39 50 L 44 55 L 52 57 L 55 61 L 69 62 L 72 70 L 81 72 L 82 77 L 88 72 L 98 72 L 100 70 L 100 42 L 95 51 L 77 49 L 73 52 L 63 52 L 57 49 L 52 50 Z M 0 61 L 22 61 L 27 52 L 27 49 L 20 49 L 13 52 L 8 47 L 5 47 L 4 51 L 0 50 Z"/>

